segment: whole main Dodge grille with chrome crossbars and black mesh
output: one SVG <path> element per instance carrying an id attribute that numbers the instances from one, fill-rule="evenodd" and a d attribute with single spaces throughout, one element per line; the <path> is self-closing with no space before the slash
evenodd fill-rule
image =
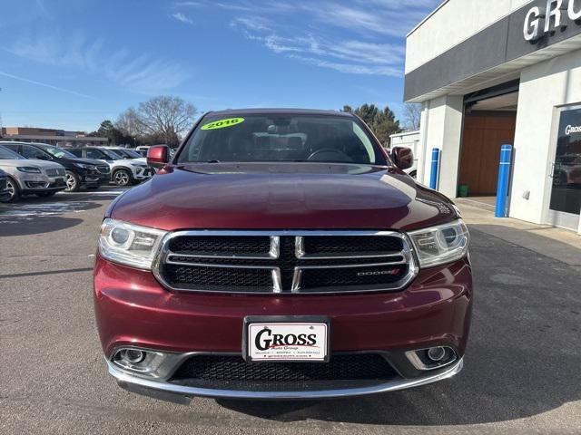
<path id="1" fill-rule="evenodd" d="M 318 294 L 399 290 L 416 267 L 396 232 L 184 231 L 155 270 L 175 290 Z"/>

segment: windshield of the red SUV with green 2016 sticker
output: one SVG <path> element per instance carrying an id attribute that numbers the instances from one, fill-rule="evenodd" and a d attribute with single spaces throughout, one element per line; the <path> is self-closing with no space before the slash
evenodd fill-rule
<path id="1" fill-rule="evenodd" d="M 216 161 L 387 164 L 356 118 L 295 114 L 204 117 L 178 163 Z"/>

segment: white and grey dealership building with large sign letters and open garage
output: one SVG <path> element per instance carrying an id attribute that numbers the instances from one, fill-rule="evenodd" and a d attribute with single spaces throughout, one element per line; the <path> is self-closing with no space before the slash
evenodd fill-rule
<path id="1" fill-rule="evenodd" d="M 513 145 L 508 216 L 581 234 L 581 0 L 444 2 L 408 34 L 405 101 L 419 181 L 439 149 L 439 191 L 496 196 Z"/>

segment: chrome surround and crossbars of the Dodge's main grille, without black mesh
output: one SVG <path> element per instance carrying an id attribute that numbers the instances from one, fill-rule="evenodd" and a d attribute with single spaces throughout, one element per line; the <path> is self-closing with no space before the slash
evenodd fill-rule
<path id="1" fill-rule="evenodd" d="M 271 249 L 269 252 L 256 253 L 255 255 L 241 254 L 224 256 L 204 254 L 183 254 L 172 252 L 170 244 L 176 237 L 270 237 Z M 292 274 L 292 284 L 289 288 L 284 288 L 281 278 L 281 267 L 277 266 L 277 260 L 281 258 L 281 237 L 294 237 L 294 266 Z M 305 253 L 305 237 L 396 237 L 401 242 L 401 250 L 378 252 L 378 253 L 351 253 L 350 255 L 310 255 Z M 358 263 L 356 259 L 361 259 Z M 192 259 L 182 261 L 182 259 Z M 207 259 L 208 263 L 204 262 Z M 264 260 L 264 265 L 248 266 L 244 264 L 227 265 L 220 264 L 216 260 Z M 373 261 L 377 259 L 377 261 Z M 210 261 L 212 260 L 212 262 Z M 337 264 L 310 266 L 310 260 L 337 260 Z M 341 260 L 345 260 L 341 264 Z M 349 261 L 348 261 L 349 260 Z M 272 284 L 268 291 L 248 291 L 237 289 L 236 287 L 224 289 L 223 291 L 201 288 L 186 288 L 179 285 L 171 285 L 164 277 L 163 266 L 196 266 L 196 267 L 218 267 L 234 269 L 261 269 L 269 270 Z M 303 271 L 316 269 L 347 269 L 347 268 L 372 268 L 379 266 L 407 266 L 407 272 L 398 281 L 385 285 L 346 285 L 332 288 L 301 288 L 301 276 Z M 223 294 L 248 294 L 248 295 L 324 295 L 324 294 L 349 294 L 349 293 L 370 293 L 399 291 L 405 288 L 418 275 L 419 266 L 409 238 L 398 231 L 368 231 L 368 230 L 187 230 L 169 233 L 163 238 L 158 253 L 153 260 L 153 275 L 166 288 L 175 291 L 203 292 L 203 293 L 223 293 Z"/>

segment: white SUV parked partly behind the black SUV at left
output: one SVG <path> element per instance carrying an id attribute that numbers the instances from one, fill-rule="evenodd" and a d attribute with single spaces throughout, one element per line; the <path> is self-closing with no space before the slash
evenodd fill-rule
<path id="1" fill-rule="evenodd" d="M 151 179 L 155 171 L 140 159 L 124 159 L 108 147 L 73 148 L 69 150 L 83 159 L 103 160 L 111 168 L 111 180 L 117 186 L 130 186 Z"/>

